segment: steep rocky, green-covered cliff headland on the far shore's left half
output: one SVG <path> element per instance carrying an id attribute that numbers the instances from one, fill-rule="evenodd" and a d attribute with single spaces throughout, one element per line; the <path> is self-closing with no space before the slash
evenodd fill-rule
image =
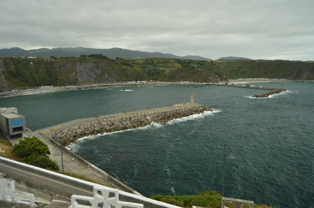
<path id="1" fill-rule="evenodd" d="M 0 58 L 0 92 L 46 85 L 84 85 L 146 79 L 143 71 L 116 64 L 112 60 Z"/>

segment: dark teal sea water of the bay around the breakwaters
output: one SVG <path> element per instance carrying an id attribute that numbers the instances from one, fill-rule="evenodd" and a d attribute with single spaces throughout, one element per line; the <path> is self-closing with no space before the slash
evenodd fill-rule
<path id="1" fill-rule="evenodd" d="M 31 130 L 69 120 L 194 101 L 214 113 L 166 125 L 84 139 L 75 152 L 145 196 L 221 193 L 277 207 L 314 207 L 314 83 L 257 83 L 288 89 L 250 98 L 258 89 L 153 86 L 89 89 L 0 98 Z M 226 150 L 227 152 L 228 150 Z"/>

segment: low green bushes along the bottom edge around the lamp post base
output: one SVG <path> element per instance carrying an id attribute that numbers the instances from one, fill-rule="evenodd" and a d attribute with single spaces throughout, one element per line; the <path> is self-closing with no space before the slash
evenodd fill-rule
<path id="1" fill-rule="evenodd" d="M 183 195 L 183 196 L 163 196 L 156 195 L 151 197 L 153 200 L 158 200 L 161 202 L 166 202 L 171 205 L 176 205 L 179 207 L 191 208 L 193 206 L 197 207 L 207 207 L 207 208 L 220 208 L 221 207 L 221 194 L 217 191 L 205 191 L 204 193 L 199 193 L 198 195 Z M 233 208 L 232 203 L 226 203 L 226 206 Z M 249 206 L 242 206 L 247 208 Z M 254 208 L 272 208 L 267 205 L 255 205 Z M 273 207 L 274 208 L 274 207 Z"/>

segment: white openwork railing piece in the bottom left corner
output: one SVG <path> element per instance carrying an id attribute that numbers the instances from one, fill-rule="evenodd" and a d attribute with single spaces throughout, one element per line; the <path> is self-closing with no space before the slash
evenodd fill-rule
<path id="1" fill-rule="evenodd" d="M 30 206 L 35 205 L 35 196 L 33 193 L 15 191 L 14 180 L 1 178 L 0 180 L 1 200 Z"/>

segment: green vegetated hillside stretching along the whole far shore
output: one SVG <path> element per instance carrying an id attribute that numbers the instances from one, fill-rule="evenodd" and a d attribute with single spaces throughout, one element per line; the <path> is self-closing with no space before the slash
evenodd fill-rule
<path id="1" fill-rule="evenodd" d="M 2 58 L 11 89 L 136 80 L 210 82 L 233 78 L 314 80 L 314 62 L 283 60 L 203 61 L 168 58 L 111 60 L 102 54 L 79 58 Z"/>

